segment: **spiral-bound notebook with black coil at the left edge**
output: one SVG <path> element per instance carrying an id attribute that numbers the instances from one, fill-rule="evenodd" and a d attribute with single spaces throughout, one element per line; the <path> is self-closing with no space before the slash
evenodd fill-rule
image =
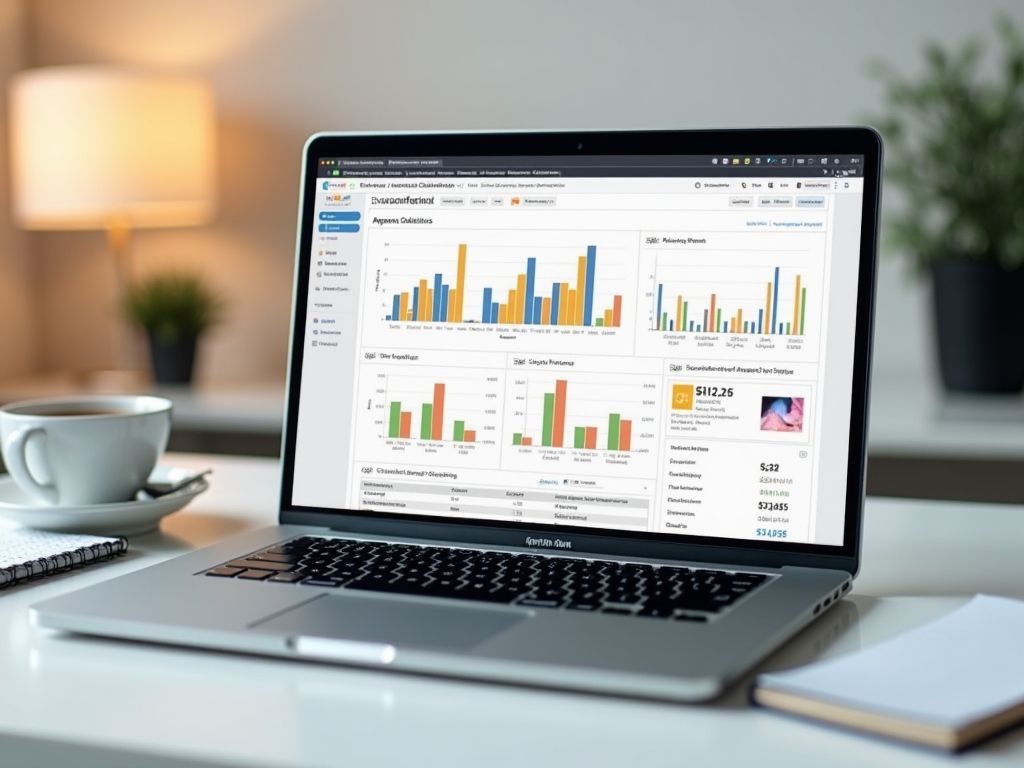
<path id="1" fill-rule="evenodd" d="M 123 537 L 32 528 L 0 531 L 0 589 L 109 560 L 127 549 L 128 540 Z"/>

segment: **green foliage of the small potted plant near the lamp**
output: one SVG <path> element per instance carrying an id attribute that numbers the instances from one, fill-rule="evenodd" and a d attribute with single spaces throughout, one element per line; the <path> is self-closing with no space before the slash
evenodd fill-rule
<path id="1" fill-rule="evenodd" d="M 125 318 L 164 343 L 199 336 L 223 319 L 224 299 L 199 274 L 163 272 L 131 286 L 121 303 Z"/>

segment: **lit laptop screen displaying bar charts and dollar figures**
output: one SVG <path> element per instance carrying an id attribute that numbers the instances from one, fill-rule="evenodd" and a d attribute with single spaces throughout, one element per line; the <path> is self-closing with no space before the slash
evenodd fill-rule
<path id="1" fill-rule="evenodd" d="M 843 546 L 865 156 L 793 148 L 310 158 L 292 504 Z"/>

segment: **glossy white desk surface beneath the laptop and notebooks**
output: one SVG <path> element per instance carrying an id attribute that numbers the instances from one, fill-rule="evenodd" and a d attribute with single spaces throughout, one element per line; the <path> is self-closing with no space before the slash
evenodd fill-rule
<path id="1" fill-rule="evenodd" d="M 950 758 L 751 709 L 745 682 L 713 705 L 671 706 L 30 627 L 34 602 L 274 521 L 275 461 L 168 462 L 212 466 L 214 474 L 210 490 L 160 532 L 136 538 L 129 556 L 112 563 L 0 592 L 0 733 L 303 768 L 1024 765 L 1022 728 Z M 851 596 L 759 669 L 859 648 L 977 592 L 1024 598 L 1024 508 L 869 500 L 863 570 Z"/>

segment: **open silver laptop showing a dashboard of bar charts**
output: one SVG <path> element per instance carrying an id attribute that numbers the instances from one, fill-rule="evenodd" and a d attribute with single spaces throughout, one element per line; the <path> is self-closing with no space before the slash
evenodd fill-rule
<path id="1" fill-rule="evenodd" d="M 280 524 L 36 625 L 693 701 L 860 559 L 867 128 L 305 144 Z"/>

